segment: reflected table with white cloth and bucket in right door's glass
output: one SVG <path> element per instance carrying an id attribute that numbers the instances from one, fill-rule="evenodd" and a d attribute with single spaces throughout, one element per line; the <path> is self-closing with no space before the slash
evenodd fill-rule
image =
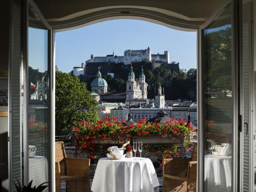
<path id="1" fill-rule="evenodd" d="M 204 181 L 206 187 L 215 190 L 229 191 L 232 186 L 232 151 L 229 143 L 216 144 L 209 142 L 210 154 L 204 156 Z"/>

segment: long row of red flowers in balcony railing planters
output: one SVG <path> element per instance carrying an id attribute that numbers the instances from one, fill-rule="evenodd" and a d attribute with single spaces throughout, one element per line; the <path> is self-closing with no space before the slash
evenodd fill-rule
<path id="1" fill-rule="evenodd" d="M 72 133 L 76 136 L 77 149 L 83 152 L 97 150 L 95 141 L 104 143 L 104 140 L 114 140 L 116 142 L 124 142 L 126 138 L 133 136 L 150 137 L 151 135 L 159 135 L 161 137 L 169 137 L 170 139 L 183 139 L 183 135 L 191 135 L 192 130 L 186 127 L 186 122 L 180 119 L 169 119 L 166 123 L 149 123 L 143 117 L 137 122 L 137 125 L 124 126 L 116 117 L 105 118 L 105 121 L 97 122 L 78 122 L 73 128 Z"/>

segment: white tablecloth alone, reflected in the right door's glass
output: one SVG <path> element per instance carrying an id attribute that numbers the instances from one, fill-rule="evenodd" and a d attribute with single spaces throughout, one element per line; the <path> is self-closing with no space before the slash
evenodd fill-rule
<path id="1" fill-rule="evenodd" d="M 206 155 L 204 157 L 204 180 L 208 189 L 229 191 L 232 186 L 231 156 Z"/>

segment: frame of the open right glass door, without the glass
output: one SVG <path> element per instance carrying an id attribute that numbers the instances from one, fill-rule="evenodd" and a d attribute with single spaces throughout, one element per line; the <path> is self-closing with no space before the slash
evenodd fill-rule
<path id="1" fill-rule="evenodd" d="M 238 57 L 238 46 L 239 44 L 239 26 L 237 24 L 237 16 L 238 10 L 236 7 L 238 6 L 237 0 L 229 0 L 225 3 L 220 9 L 215 10 L 214 14 L 209 17 L 209 19 L 199 27 L 198 30 L 198 151 L 204 151 L 204 53 L 203 53 L 203 30 L 209 26 L 213 21 L 215 21 L 218 16 L 223 12 L 223 10 L 231 5 L 232 9 L 232 18 L 231 18 L 231 25 L 232 25 L 232 99 L 233 99 L 233 141 L 232 141 L 232 175 L 237 175 L 237 177 L 232 177 L 232 191 L 237 192 L 238 190 L 238 179 L 239 179 L 239 170 L 237 168 L 238 165 L 238 64 L 239 64 L 239 57 Z M 198 152 L 198 172 L 197 172 L 197 191 L 201 192 L 204 191 L 204 154 Z"/>

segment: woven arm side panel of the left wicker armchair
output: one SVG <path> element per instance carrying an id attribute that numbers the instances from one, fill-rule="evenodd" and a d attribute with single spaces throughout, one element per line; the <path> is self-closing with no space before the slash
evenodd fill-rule
<path id="1" fill-rule="evenodd" d="M 84 158 L 65 158 L 67 163 L 67 175 L 68 176 L 89 176 L 90 172 L 90 159 Z"/>

